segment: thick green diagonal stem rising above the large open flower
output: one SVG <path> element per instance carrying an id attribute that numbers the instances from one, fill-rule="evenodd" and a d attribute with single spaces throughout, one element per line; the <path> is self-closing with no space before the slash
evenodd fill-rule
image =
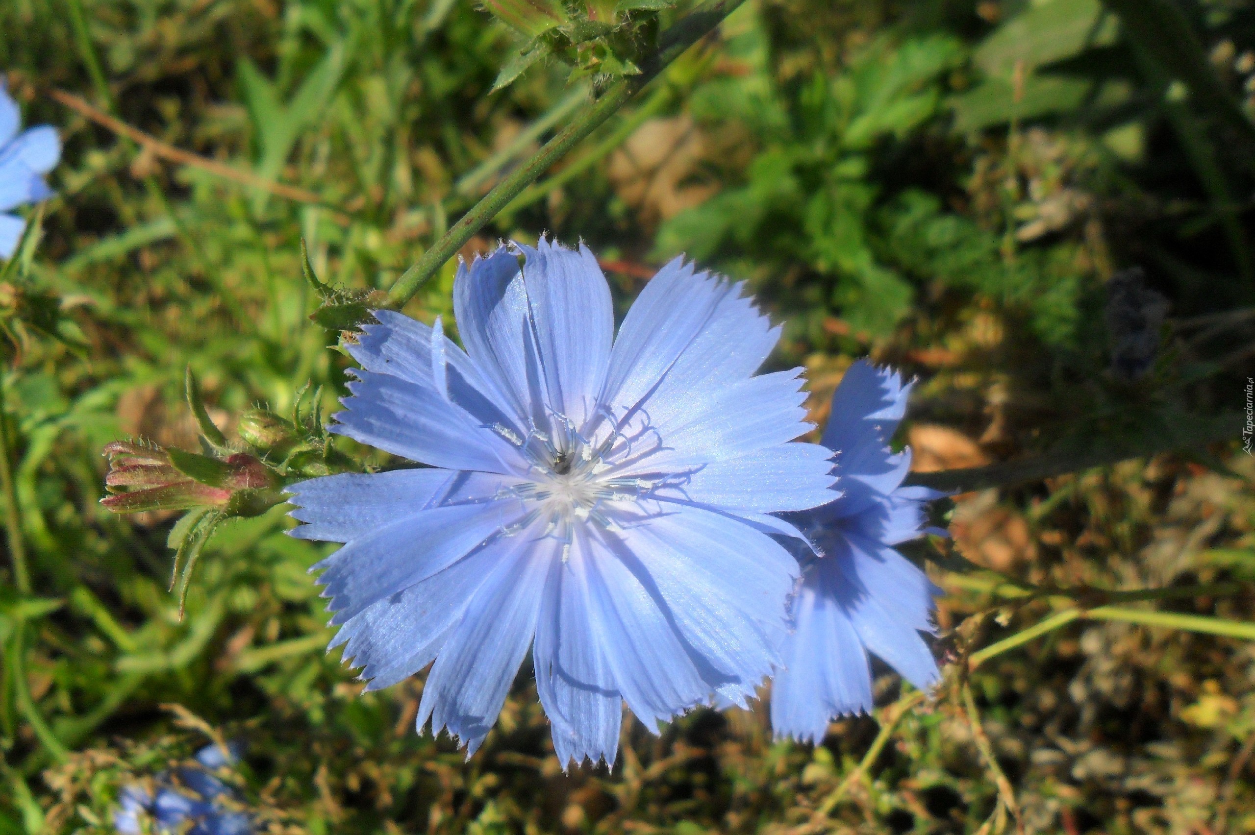
<path id="1" fill-rule="evenodd" d="M 671 61 L 710 33 L 724 18 L 738 9 L 744 0 L 717 0 L 700 11 L 694 11 L 685 16 L 663 33 L 659 39 L 661 45 L 658 53 L 650 60 L 644 61 L 640 75 L 633 75 L 617 81 L 600 98 L 584 105 L 566 128 L 545 143 L 531 159 L 507 174 L 491 192 L 484 194 L 469 212 L 462 216 L 462 219 L 454 223 L 432 248 L 423 253 L 418 263 L 402 273 L 397 283 L 388 291 L 389 306 L 395 308 L 403 307 L 405 302 L 414 297 L 419 287 L 434 276 L 444 262 L 452 258 L 471 239 L 472 234 L 487 226 L 525 188 L 536 182 L 553 163 L 565 157 L 569 150 L 601 127 L 619 108 L 640 93 Z"/>

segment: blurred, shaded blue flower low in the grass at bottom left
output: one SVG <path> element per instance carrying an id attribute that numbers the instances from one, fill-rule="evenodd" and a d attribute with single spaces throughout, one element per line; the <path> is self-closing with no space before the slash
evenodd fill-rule
<path id="1" fill-rule="evenodd" d="M 213 771 L 231 766 L 235 751 L 210 745 L 196 754 L 196 766 L 177 770 L 179 786 L 158 775 L 156 794 L 141 785 L 124 786 L 113 812 L 113 827 L 122 835 L 179 832 L 186 835 L 252 835 L 248 815 L 233 811 L 222 799 L 233 795 Z M 144 822 L 149 822 L 146 829 Z"/>

